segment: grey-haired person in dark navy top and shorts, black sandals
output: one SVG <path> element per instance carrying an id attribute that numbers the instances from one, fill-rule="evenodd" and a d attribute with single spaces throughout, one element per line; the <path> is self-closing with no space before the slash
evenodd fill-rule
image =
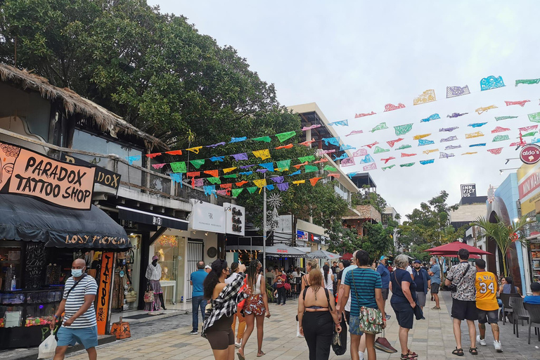
<path id="1" fill-rule="evenodd" d="M 390 304 L 396 313 L 399 324 L 399 345 L 401 346 L 401 360 L 413 360 L 418 357 L 407 346 L 409 330 L 413 328 L 414 308 L 416 307 L 416 283 L 407 271 L 409 257 L 398 255 L 394 259 L 396 269 L 390 275 L 390 290 L 392 298 Z"/>

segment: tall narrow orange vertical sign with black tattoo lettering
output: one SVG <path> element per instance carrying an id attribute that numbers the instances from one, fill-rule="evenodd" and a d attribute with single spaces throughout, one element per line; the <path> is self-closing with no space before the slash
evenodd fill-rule
<path id="1" fill-rule="evenodd" d="M 101 270 L 98 283 L 96 320 L 98 321 L 98 335 L 105 335 L 110 309 L 110 289 L 113 282 L 114 252 L 101 254 Z"/>

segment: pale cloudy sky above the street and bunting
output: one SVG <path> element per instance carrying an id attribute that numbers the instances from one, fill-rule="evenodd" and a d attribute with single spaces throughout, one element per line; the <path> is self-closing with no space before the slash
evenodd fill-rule
<path id="1" fill-rule="evenodd" d="M 380 195 L 402 216 L 442 190 L 449 204 L 461 198 L 461 184 L 476 184 L 477 195 L 487 195 L 521 165 L 519 127 L 528 127 L 527 114 L 540 112 L 540 84 L 515 86 L 515 79 L 540 78 L 537 46 L 538 1 L 184 1 L 148 0 L 164 13 L 184 15 L 201 34 L 220 46 L 230 45 L 248 60 L 250 68 L 274 83 L 286 106 L 317 103 L 330 122 L 348 120 L 335 129 L 343 143 L 362 148 L 378 141 L 386 153 L 373 154 L 378 169 L 370 171 Z M 506 86 L 480 91 L 480 80 L 501 76 Z M 469 95 L 446 98 L 446 86 L 465 86 Z M 423 91 L 433 89 L 437 101 L 413 105 Z M 524 107 L 504 101 L 530 100 Z M 385 105 L 405 108 L 385 112 Z M 482 114 L 480 107 L 496 105 Z M 354 118 L 356 113 L 375 112 Z M 420 122 L 433 114 L 439 120 Z M 452 113 L 468 113 L 449 118 Z M 518 116 L 496 121 L 495 117 Z M 388 129 L 373 131 L 385 122 Z M 468 124 L 487 122 L 482 127 Z M 413 124 L 398 139 L 394 128 Z M 458 127 L 452 132 L 441 128 Z M 510 129 L 492 134 L 496 127 Z M 362 134 L 346 136 L 351 131 Z M 465 139 L 482 131 L 484 136 Z M 435 143 L 418 146 L 413 136 Z M 496 135 L 510 141 L 492 142 Z M 525 133 L 524 133 L 525 134 Z M 440 142 L 449 136 L 458 140 Z M 536 134 L 535 138 L 540 139 Z M 533 137 L 524 138 L 529 142 Z M 470 148 L 476 143 L 486 146 Z M 395 150 L 402 144 L 412 148 Z M 445 151 L 449 145 L 462 148 Z M 503 148 L 499 155 L 488 149 Z M 365 148 L 365 147 L 364 147 Z M 425 150 L 439 150 L 424 154 Z M 354 150 L 352 150 L 354 151 Z M 454 153 L 439 159 L 439 152 Z M 474 155 L 462 155 L 477 152 Z M 401 153 L 417 155 L 401 158 Z M 382 158 L 394 157 L 385 165 Z M 420 165 L 420 160 L 435 161 Z M 359 162 L 361 158 L 355 158 Z M 399 167 L 415 162 L 411 167 Z M 395 164 L 383 171 L 381 167 Z M 364 172 L 364 165 L 344 167 Z"/>

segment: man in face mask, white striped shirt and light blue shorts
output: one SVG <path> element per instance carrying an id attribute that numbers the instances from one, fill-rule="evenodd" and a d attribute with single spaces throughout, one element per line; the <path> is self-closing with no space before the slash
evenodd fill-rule
<path id="1" fill-rule="evenodd" d="M 51 330 L 56 326 L 56 321 L 65 311 L 62 326 L 58 330 L 58 346 L 54 360 L 63 360 L 68 345 L 75 342 L 84 345 L 90 360 L 96 360 L 98 354 L 98 326 L 96 322 L 96 310 L 94 299 L 98 293 L 96 280 L 86 275 L 86 263 L 84 259 L 76 259 L 72 264 L 71 274 L 65 282 L 63 300 L 54 314 Z"/>

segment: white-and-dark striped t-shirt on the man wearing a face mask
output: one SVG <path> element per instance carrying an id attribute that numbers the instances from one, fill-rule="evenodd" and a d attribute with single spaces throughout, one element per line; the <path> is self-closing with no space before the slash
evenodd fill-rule
<path id="1" fill-rule="evenodd" d="M 68 291 L 70 288 L 75 285 L 75 280 L 73 276 L 68 278 L 68 281 L 65 282 L 64 296 L 65 300 L 65 316 L 64 321 L 70 319 L 84 304 L 84 295 L 97 295 L 98 293 L 98 284 L 93 277 L 86 275 L 80 283 L 71 290 L 70 296 Z M 88 310 L 81 316 L 79 316 L 73 323 L 69 326 L 70 328 L 90 328 L 91 326 L 96 326 L 98 323 L 96 321 L 96 310 L 94 309 L 94 302 Z"/>

